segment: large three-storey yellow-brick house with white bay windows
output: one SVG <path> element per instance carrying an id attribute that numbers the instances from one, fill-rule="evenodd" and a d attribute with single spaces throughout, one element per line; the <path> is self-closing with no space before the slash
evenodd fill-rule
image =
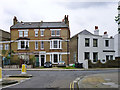
<path id="1" fill-rule="evenodd" d="M 68 15 L 61 22 L 19 22 L 14 17 L 10 31 L 14 60 L 19 57 L 29 63 L 35 56 L 37 66 L 43 66 L 47 61 L 55 65 L 59 61 L 69 64 Z"/>

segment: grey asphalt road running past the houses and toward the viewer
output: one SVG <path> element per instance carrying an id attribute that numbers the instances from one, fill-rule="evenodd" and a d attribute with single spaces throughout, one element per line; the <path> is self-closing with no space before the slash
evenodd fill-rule
<path id="1" fill-rule="evenodd" d="M 69 88 L 70 82 L 77 77 L 83 77 L 97 73 L 118 72 L 114 70 L 95 71 L 27 71 L 32 74 L 32 79 L 9 88 Z M 20 71 L 3 71 L 4 75 L 20 74 Z"/>

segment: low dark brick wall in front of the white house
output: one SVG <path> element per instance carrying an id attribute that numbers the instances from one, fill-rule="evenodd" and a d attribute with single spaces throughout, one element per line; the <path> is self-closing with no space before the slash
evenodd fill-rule
<path id="1" fill-rule="evenodd" d="M 120 59 L 116 60 L 108 60 L 105 63 L 101 63 L 98 60 L 96 63 L 92 63 L 91 60 L 88 60 L 89 68 L 119 68 L 120 67 Z"/>

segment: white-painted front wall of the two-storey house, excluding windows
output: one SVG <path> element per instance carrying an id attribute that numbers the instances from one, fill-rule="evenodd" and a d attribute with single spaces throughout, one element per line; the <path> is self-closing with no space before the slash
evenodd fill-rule
<path id="1" fill-rule="evenodd" d="M 85 38 L 90 38 L 90 46 L 85 47 Z M 93 47 L 93 39 L 98 39 L 98 47 Z M 105 40 L 109 40 L 109 47 L 105 47 Z M 93 52 L 98 52 L 98 60 L 106 59 L 106 55 L 113 55 L 115 52 L 103 52 L 103 50 L 114 51 L 114 39 L 103 38 L 100 35 L 83 35 L 78 34 L 78 62 L 84 63 L 84 52 L 90 53 L 90 60 L 93 61 Z"/>

